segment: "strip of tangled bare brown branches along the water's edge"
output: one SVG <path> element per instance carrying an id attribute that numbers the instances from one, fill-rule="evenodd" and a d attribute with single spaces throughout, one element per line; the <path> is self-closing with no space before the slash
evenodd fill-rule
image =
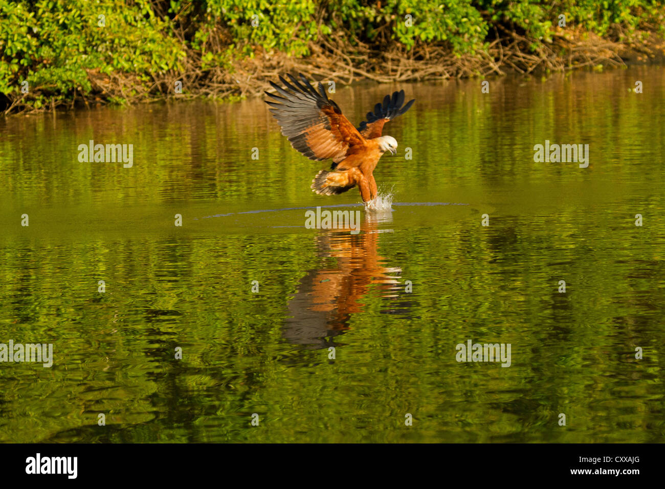
<path id="1" fill-rule="evenodd" d="M 505 29 L 503 29 L 505 30 Z M 498 34 L 498 33 L 497 33 Z M 303 73 L 312 81 L 335 82 L 340 86 L 355 82 L 420 82 L 446 79 L 485 79 L 504 75 L 553 75 L 584 68 L 604 69 L 642 65 L 665 65 L 665 40 L 648 33 L 641 43 L 616 43 L 589 32 L 569 30 L 557 33 L 552 43 L 535 40 L 505 30 L 503 37 L 487 43 L 487 49 L 474 55 L 458 56 L 440 45 L 418 45 L 412 49 L 393 47 L 390 51 L 370 49 L 362 43 L 350 46 L 340 37 L 311 43 L 311 55 L 291 57 L 285 53 L 265 53 L 257 49 L 253 57 L 237 59 L 231 69 L 214 67 L 207 71 L 185 70 L 154 77 L 150 84 L 136 75 L 104 75 L 86 71 L 92 86 L 90 94 L 74 90 L 73 96 L 55 100 L 40 108 L 24 103 L 26 94 L 9 98 L 0 110 L 3 116 L 61 112 L 100 105 L 132 106 L 167 100 L 233 101 L 261 96 L 271 90 L 269 81 L 285 73 Z M 344 50 L 348 54 L 344 53 Z M 191 53 L 190 53 L 191 54 Z M 188 59 L 196 59 L 191 56 Z M 178 92 L 178 82 L 182 91 Z M 126 96 L 134 92 L 133 96 Z M 122 101 L 118 98 L 123 95 Z"/>

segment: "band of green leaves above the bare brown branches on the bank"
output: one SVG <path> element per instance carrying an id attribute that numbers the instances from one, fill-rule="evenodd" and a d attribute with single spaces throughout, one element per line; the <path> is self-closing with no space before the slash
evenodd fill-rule
<path id="1" fill-rule="evenodd" d="M 561 13 L 569 26 L 617 40 L 665 24 L 649 0 L 0 0 L 0 108 L 22 97 L 23 81 L 21 104 L 33 108 L 77 94 L 132 100 L 167 73 L 229 71 L 258 52 L 301 57 L 328 35 L 381 49 L 438 43 L 461 56 L 487 49 L 501 26 L 536 49 L 551 42 Z"/>

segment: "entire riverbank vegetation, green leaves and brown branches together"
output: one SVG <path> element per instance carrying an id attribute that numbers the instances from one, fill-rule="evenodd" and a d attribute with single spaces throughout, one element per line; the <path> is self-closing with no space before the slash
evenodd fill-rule
<path id="1" fill-rule="evenodd" d="M 0 111 L 619 66 L 664 54 L 652 0 L 0 0 Z"/>

